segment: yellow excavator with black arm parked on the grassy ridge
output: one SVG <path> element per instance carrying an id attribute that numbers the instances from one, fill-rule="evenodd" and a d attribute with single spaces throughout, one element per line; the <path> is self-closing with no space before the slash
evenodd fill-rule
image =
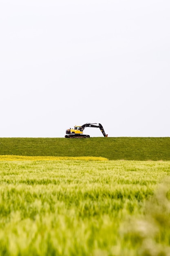
<path id="1" fill-rule="evenodd" d="M 76 126 L 75 125 L 74 129 L 71 129 L 71 128 L 67 129 L 65 138 L 90 138 L 90 135 L 83 134 L 84 128 L 86 128 L 86 127 L 100 128 L 101 132 L 103 133 L 103 136 L 108 137 L 108 134 L 105 133 L 102 124 L 86 123 L 86 124 L 83 124 L 82 126 Z"/>

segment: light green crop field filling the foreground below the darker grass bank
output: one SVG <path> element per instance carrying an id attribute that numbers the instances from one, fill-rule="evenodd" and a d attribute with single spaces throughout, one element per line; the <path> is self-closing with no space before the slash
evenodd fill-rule
<path id="1" fill-rule="evenodd" d="M 1 256 L 170 255 L 170 162 L 10 157 Z"/>

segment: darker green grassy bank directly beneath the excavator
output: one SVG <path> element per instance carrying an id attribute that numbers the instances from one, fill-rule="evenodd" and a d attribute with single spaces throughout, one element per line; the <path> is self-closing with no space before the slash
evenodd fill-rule
<path id="1" fill-rule="evenodd" d="M 0 155 L 170 160 L 170 137 L 0 138 Z"/>

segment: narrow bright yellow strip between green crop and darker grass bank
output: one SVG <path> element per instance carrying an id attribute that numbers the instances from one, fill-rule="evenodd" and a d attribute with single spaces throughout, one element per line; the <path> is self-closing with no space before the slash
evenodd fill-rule
<path id="1" fill-rule="evenodd" d="M 23 156 L 23 155 L 0 155 L 0 161 L 107 161 L 106 157 L 54 157 L 54 156 Z"/>

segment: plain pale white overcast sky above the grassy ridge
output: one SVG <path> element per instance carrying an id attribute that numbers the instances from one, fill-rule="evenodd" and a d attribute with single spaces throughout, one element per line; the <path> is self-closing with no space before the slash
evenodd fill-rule
<path id="1" fill-rule="evenodd" d="M 0 0 L 0 137 L 170 137 L 169 95 L 169 0 Z"/>

